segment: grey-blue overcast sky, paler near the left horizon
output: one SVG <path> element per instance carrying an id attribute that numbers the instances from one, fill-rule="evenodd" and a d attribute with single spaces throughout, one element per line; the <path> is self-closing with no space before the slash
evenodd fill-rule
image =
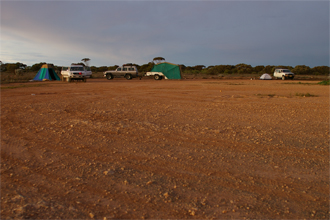
<path id="1" fill-rule="evenodd" d="M 329 66 L 329 1 L 3 1 L 3 63 Z"/>

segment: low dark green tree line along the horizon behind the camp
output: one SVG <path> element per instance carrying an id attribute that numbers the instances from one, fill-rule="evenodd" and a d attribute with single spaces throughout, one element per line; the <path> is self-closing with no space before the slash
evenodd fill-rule
<path id="1" fill-rule="evenodd" d="M 84 58 L 85 61 L 88 58 Z M 83 59 L 83 60 L 84 60 Z M 82 61 L 83 61 L 82 60 Z M 89 59 L 88 59 L 89 61 Z M 41 66 L 45 64 L 45 62 L 36 63 L 32 66 L 27 66 L 26 64 L 17 62 L 17 63 L 2 63 L 0 61 L 0 69 L 1 72 L 9 72 L 9 73 L 15 73 L 16 69 L 22 69 L 26 72 L 30 71 L 39 71 Z M 83 64 L 84 63 L 79 63 Z M 152 67 L 155 65 L 155 62 L 149 62 L 147 64 L 138 65 L 133 64 L 137 67 L 139 72 L 148 72 L 152 69 Z M 196 66 L 185 66 L 183 64 L 179 65 L 181 68 L 182 73 L 184 74 L 206 74 L 206 75 L 217 75 L 217 74 L 263 74 L 263 73 L 269 73 L 272 74 L 276 68 L 283 68 L 283 69 L 289 69 L 291 72 L 297 74 L 297 75 L 329 75 L 330 73 L 330 67 L 329 66 L 316 66 L 313 68 L 310 68 L 306 65 L 297 65 L 295 67 L 293 66 L 272 66 L 272 65 L 259 65 L 252 67 L 249 64 L 240 63 L 237 65 L 215 65 L 215 66 L 204 66 L 204 65 L 196 65 Z M 91 66 L 92 72 L 104 72 L 107 70 L 115 70 L 118 65 L 114 66 Z M 54 65 L 54 69 L 56 72 L 61 71 L 61 66 Z"/>

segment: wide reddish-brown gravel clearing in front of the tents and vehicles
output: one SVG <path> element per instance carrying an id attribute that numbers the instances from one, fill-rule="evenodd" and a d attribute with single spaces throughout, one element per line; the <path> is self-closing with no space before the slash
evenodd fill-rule
<path id="1" fill-rule="evenodd" d="M 1 219 L 329 219 L 317 82 L 1 85 Z"/>

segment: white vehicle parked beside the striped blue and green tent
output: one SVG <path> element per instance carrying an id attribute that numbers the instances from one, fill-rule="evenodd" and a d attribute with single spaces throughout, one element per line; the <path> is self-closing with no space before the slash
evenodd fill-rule
<path id="1" fill-rule="evenodd" d="M 82 80 L 86 82 L 86 79 L 91 77 L 92 71 L 88 66 L 72 64 L 71 66 L 63 66 L 61 75 L 63 81 Z"/>

